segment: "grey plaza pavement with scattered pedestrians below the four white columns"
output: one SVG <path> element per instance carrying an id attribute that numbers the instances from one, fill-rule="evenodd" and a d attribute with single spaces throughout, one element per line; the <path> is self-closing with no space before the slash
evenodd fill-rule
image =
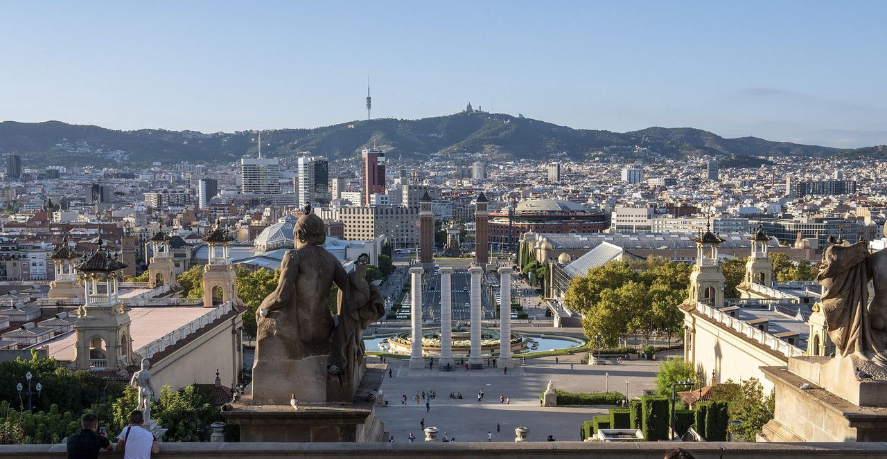
<path id="1" fill-rule="evenodd" d="M 581 355 L 529 359 L 522 367 L 502 370 L 485 367 L 483 370 L 456 369 L 442 371 L 410 370 L 406 361 L 389 359 L 393 377 L 386 375 L 382 391 L 388 407 L 377 408 L 376 415 L 396 442 L 407 441 L 410 432 L 417 441 L 424 439 L 420 420 L 425 418 L 426 427 L 435 426 L 457 441 L 486 441 L 487 432 L 493 433 L 493 441 L 514 441 L 514 428 L 530 429 L 530 441 L 544 441 L 549 434 L 557 440 L 579 440 L 579 424 L 594 415 L 604 414 L 607 407 L 544 408 L 539 406 L 539 395 L 551 380 L 554 387 L 569 392 L 624 393 L 628 380 L 630 398 L 639 396 L 644 389 L 655 387 L 655 370 L 659 362 L 624 361 L 622 365 L 582 365 Z M 369 362 L 379 362 L 370 357 Z M 458 361 L 457 361 L 458 362 Z M 573 363 L 570 370 L 569 364 Z M 608 373 L 609 377 L 605 376 Z M 607 387 L 608 386 L 608 387 Z M 477 401 L 477 392 L 483 387 L 484 398 Z M 402 395 L 409 398 L 422 391 L 435 391 L 437 398 L 431 401 L 426 413 L 425 401 L 415 405 L 408 400 L 401 404 Z M 461 392 L 461 400 L 450 399 L 451 392 Z M 510 404 L 500 404 L 498 397 L 511 398 Z M 496 435 L 496 424 L 501 435 Z"/>

